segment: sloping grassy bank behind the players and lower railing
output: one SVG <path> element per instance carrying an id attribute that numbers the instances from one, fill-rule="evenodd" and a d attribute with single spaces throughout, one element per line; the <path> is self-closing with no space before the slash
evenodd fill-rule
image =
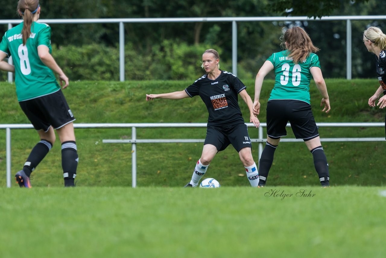
<path id="1" fill-rule="evenodd" d="M 317 122 L 383 122 L 384 111 L 370 108 L 368 98 L 377 82 L 368 80 L 326 80 L 332 110 L 321 112 L 320 94 L 311 86 L 311 102 Z M 207 121 L 207 110 L 200 97 L 182 100 L 145 101 L 146 93 L 180 91 L 191 81 L 71 82 L 63 92 L 76 123 L 190 123 Z M 253 98 L 254 81 L 244 81 Z M 264 82 L 259 119 L 265 122 L 266 100 L 273 81 Z M 16 100 L 14 84 L 0 83 L 1 123 L 29 123 Z M 249 112 L 240 99 L 245 121 Z M 248 122 L 248 121 L 247 121 Z M 205 128 L 138 128 L 137 138 L 205 138 Z M 383 128 L 320 128 L 321 137 L 383 137 Z M 102 144 L 102 139 L 130 138 L 131 129 L 76 129 L 79 186 L 131 186 L 131 145 Z M 264 130 L 265 133 L 265 130 Z M 250 128 L 251 138 L 257 129 Z M 288 128 L 288 137 L 293 138 Z M 5 130 L 0 131 L 0 186 L 5 186 Z M 38 142 L 34 130 L 12 130 L 12 176 L 24 164 Z M 386 183 L 384 142 L 327 142 L 323 148 L 330 165 L 332 185 L 373 185 Z M 183 186 L 200 157 L 202 144 L 137 144 L 137 186 Z M 253 146 L 257 162 L 257 144 Z M 235 150 L 230 146 L 217 154 L 207 176 L 222 186 L 248 186 Z M 32 174 L 33 186 L 60 186 L 63 183 L 59 141 Z M 303 143 L 281 143 L 276 150 L 269 185 L 315 185 L 318 178 L 312 155 Z"/>

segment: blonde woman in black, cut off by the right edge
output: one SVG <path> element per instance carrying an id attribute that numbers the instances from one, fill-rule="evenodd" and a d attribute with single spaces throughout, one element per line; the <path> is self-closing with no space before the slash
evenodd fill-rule
<path id="1" fill-rule="evenodd" d="M 375 107 L 375 101 L 383 92 L 383 96 L 379 99 L 377 106 L 379 106 L 379 108 L 384 108 L 386 106 L 386 35 L 383 34 L 381 29 L 377 27 L 369 27 L 368 29 L 366 29 L 366 31 L 363 32 L 363 42 L 367 50 L 376 55 L 376 72 L 380 84 L 374 95 L 369 98 L 369 106 Z"/>

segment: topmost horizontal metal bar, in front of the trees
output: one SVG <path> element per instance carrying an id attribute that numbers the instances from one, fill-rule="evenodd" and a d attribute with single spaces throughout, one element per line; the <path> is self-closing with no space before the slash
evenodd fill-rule
<path id="1" fill-rule="evenodd" d="M 314 19 L 307 16 L 289 17 L 191 17 L 191 18 L 105 18 L 105 19 L 39 19 L 48 24 L 71 23 L 151 23 L 151 22 L 251 22 L 251 21 L 345 21 L 345 20 L 384 20 L 386 15 L 347 15 L 323 16 Z M 0 24 L 19 24 L 21 19 L 0 20 Z"/>

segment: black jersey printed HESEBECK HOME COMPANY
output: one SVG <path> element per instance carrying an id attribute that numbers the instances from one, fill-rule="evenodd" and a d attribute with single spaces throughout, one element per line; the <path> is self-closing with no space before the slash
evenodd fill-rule
<path id="1" fill-rule="evenodd" d="M 239 93 L 245 85 L 234 74 L 221 71 L 220 75 L 211 80 L 203 75 L 185 92 L 194 97 L 199 95 L 208 109 L 208 125 L 225 126 L 231 123 L 244 123 L 238 103 Z"/>

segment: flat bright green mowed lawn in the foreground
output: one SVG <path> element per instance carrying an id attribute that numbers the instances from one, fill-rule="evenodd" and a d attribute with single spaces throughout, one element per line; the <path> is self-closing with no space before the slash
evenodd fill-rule
<path id="1" fill-rule="evenodd" d="M 385 194 L 367 186 L 0 188 L 0 256 L 386 257 Z"/>

